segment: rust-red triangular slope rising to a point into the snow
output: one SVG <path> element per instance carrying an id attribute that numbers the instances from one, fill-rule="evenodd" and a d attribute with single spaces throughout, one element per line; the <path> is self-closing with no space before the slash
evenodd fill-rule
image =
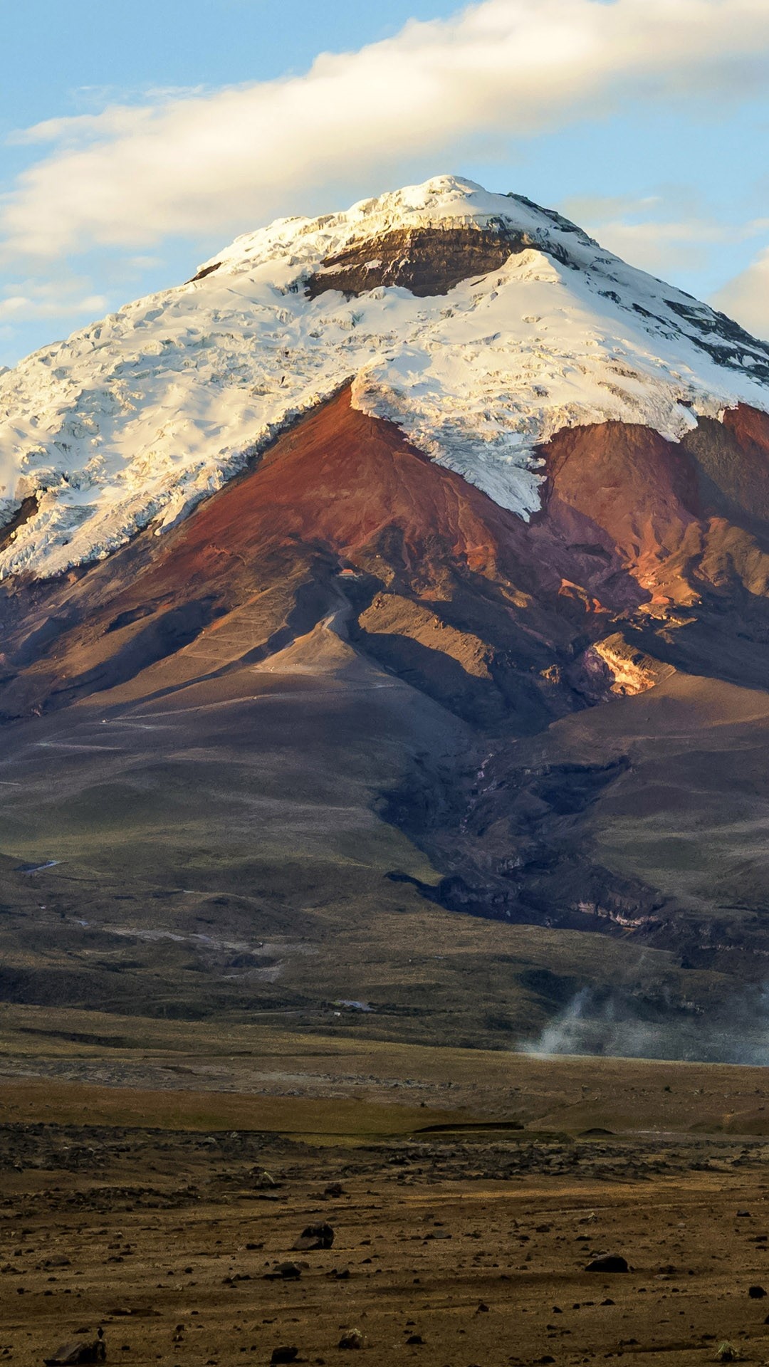
<path id="1" fill-rule="evenodd" d="M 582 550 L 597 537 L 608 556 Z M 216 582 L 224 559 L 260 566 L 298 547 L 319 547 L 372 570 L 391 559 L 423 592 L 441 589 L 450 566 L 545 596 L 558 595 L 564 578 L 576 576 L 612 608 L 643 596 L 616 582 L 623 566 L 612 554 L 612 534 L 583 509 L 556 513 L 551 503 L 547 515 L 527 526 L 424 457 L 391 422 L 353 409 L 348 390 L 301 420 L 253 472 L 168 537 L 141 588 L 183 592 L 200 578 Z"/>

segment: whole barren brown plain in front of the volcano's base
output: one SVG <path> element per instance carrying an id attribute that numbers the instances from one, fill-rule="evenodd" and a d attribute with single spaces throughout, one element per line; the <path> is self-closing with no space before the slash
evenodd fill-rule
<path id="1" fill-rule="evenodd" d="M 371 1367 L 769 1356 L 762 1070 L 263 1050 L 197 1091 L 160 1055 L 140 1088 L 8 1054 L 3 1360 L 100 1327 L 127 1367 L 331 1367 L 353 1330 Z M 322 1225 L 331 1247 L 294 1247 Z"/>

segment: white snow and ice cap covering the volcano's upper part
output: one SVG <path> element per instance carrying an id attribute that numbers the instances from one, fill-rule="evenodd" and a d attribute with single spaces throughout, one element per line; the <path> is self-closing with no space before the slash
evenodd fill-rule
<path id="1" fill-rule="evenodd" d="M 528 518 L 536 448 L 616 420 L 679 440 L 769 410 L 769 347 L 560 215 L 441 176 L 238 238 L 0 375 L 0 576 L 168 526 L 300 413 L 353 407 Z"/>

